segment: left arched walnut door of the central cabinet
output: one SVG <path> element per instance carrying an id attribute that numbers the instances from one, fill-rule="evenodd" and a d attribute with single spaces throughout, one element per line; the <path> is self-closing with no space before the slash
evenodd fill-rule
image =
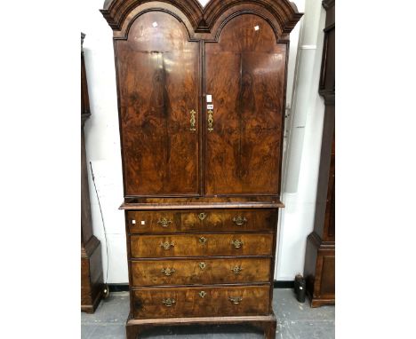
<path id="1" fill-rule="evenodd" d="M 195 195 L 199 43 L 166 12 L 146 12 L 116 40 L 125 195 Z"/>

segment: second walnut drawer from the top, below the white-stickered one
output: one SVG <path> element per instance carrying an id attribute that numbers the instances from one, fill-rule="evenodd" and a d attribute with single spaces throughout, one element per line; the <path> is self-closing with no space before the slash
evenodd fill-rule
<path id="1" fill-rule="evenodd" d="M 132 257 L 271 256 L 273 233 L 132 235 Z"/>

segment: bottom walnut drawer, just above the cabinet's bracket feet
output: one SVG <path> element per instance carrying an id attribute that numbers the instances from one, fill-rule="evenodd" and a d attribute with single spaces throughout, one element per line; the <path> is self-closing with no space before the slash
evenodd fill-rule
<path id="1" fill-rule="evenodd" d="M 269 286 L 133 290 L 136 319 L 267 315 Z"/>

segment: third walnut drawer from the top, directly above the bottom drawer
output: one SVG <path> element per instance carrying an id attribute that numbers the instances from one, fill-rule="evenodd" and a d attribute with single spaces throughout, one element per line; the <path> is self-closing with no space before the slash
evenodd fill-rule
<path id="1" fill-rule="evenodd" d="M 270 258 L 140 260 L 132 262 L 132 285 L 195 285 L 268 282 Z"/>

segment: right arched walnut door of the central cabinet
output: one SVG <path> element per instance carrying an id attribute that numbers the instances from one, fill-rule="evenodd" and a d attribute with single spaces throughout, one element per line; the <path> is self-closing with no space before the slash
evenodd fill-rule
<path id="1" fill-rule="evenodd" d="M 205 131 L 207 194 L 279 192 L 285 61 L 286 45 L 254 14 L 229 20 L 218 43 L 205 43 L 213 104 L 212 130 L 207 122 Z"/>

